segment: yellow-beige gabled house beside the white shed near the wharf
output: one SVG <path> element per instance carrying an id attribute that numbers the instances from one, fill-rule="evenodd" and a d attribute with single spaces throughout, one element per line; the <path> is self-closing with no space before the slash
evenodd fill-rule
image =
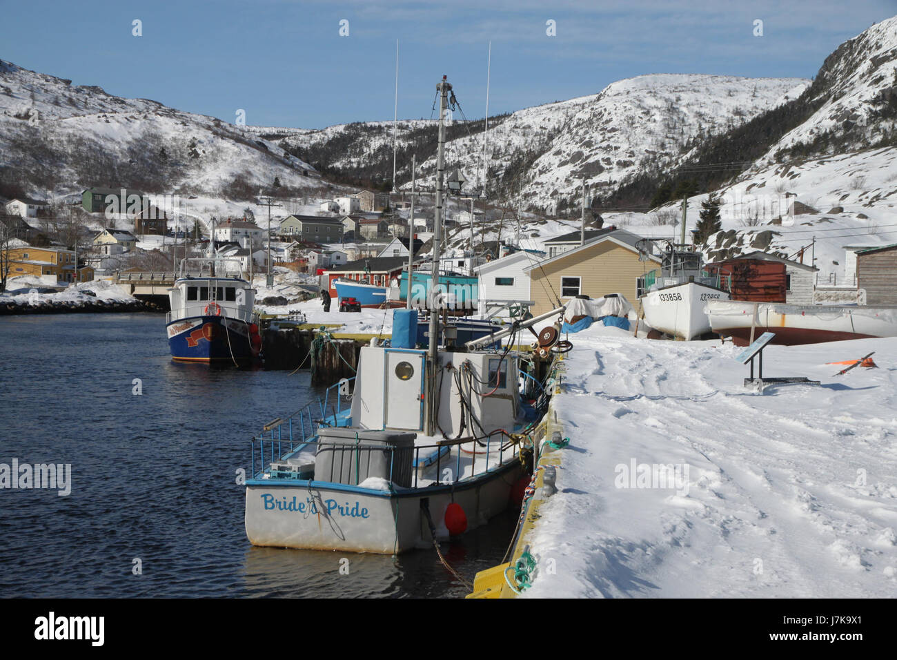
<path id="1" fill-rule="evenodd" d="M 640 311 L 637 280 L 656 268 L 659 260 L 654 256 L 639 260 L 635 247 L 639 241 L 634 233 L 609 227 L 593 233 L 585 245 L 527 266 L 529 298 L 536 303 L 530 312 L 534 316 L 551 312 L 558 302 L 567 303 L 577 295 L 600 298 L 617 293 Z"/>

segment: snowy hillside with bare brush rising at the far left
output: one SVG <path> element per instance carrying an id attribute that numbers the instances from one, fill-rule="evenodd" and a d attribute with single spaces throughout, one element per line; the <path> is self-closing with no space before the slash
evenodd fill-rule
<path id="1" fill-rule="evenodd" d="M 242 127 L 0 60 L 0 183 L 15 194 L 127 186 L 240 199 L 275 177 L 300 194 L 322 188 L 308 163 Z"/>

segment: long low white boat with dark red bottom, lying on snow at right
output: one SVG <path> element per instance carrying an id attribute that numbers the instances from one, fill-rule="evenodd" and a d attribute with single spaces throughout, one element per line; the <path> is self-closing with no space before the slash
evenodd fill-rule
<path id="1" fill-rule="evenodd" d="M 897 337 L 894 307 L 713 300 L 706 308 L 712 330 L 736 346 L 747 346 L 763 332 L 775 333 L 771 343 L 785 346 Z"/>

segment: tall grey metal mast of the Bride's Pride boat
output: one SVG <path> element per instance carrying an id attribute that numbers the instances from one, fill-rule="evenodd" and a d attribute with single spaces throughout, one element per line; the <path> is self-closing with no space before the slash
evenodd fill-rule
<path id="1" fill-rule="evenodd" d="M 437 302 L 440 298 L 440 260 L 442 258 L 442 184 L 445 179 L 445 146 L 446 146 L 446 110 L 448 110 L 448 93 L 451 92 L 451 84 L 447 82 L 447 77 L 443 75 L 440 84 L 436 85 L 436 91 L 440 93 L 440 133 L 439 133 L 439 149 L 436 155 L 436 208 L 433 216 L 433 268 L 430 279 L 430 337 L 428 347 L 428 361 L 430 369 L 428 380 L 430 382 L 429 399 L 427 403 L 427 426 L 426 433 L 428 436 L 433 435 L 436 429 L 436 411 L 438 410 L 439 401 L 436 400 L 434 392 L 436 392 L 436 374 L 439 371 L 439 327 L 440 313 L 437 308 Z M 409 281 L 409 286 L 411 282 Z"/>

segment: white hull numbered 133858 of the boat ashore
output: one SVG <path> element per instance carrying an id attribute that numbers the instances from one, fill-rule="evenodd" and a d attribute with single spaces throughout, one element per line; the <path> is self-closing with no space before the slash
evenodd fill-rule
<path id="1" fill-rule="evenodd" d="M 726 291 L 699 282 L 685 282 L 649 291 L 641 304 L 649 326 L 680 339 L 692 339 L 710 332 L 704 311 L 710 300 L 728 300 Z"/>

